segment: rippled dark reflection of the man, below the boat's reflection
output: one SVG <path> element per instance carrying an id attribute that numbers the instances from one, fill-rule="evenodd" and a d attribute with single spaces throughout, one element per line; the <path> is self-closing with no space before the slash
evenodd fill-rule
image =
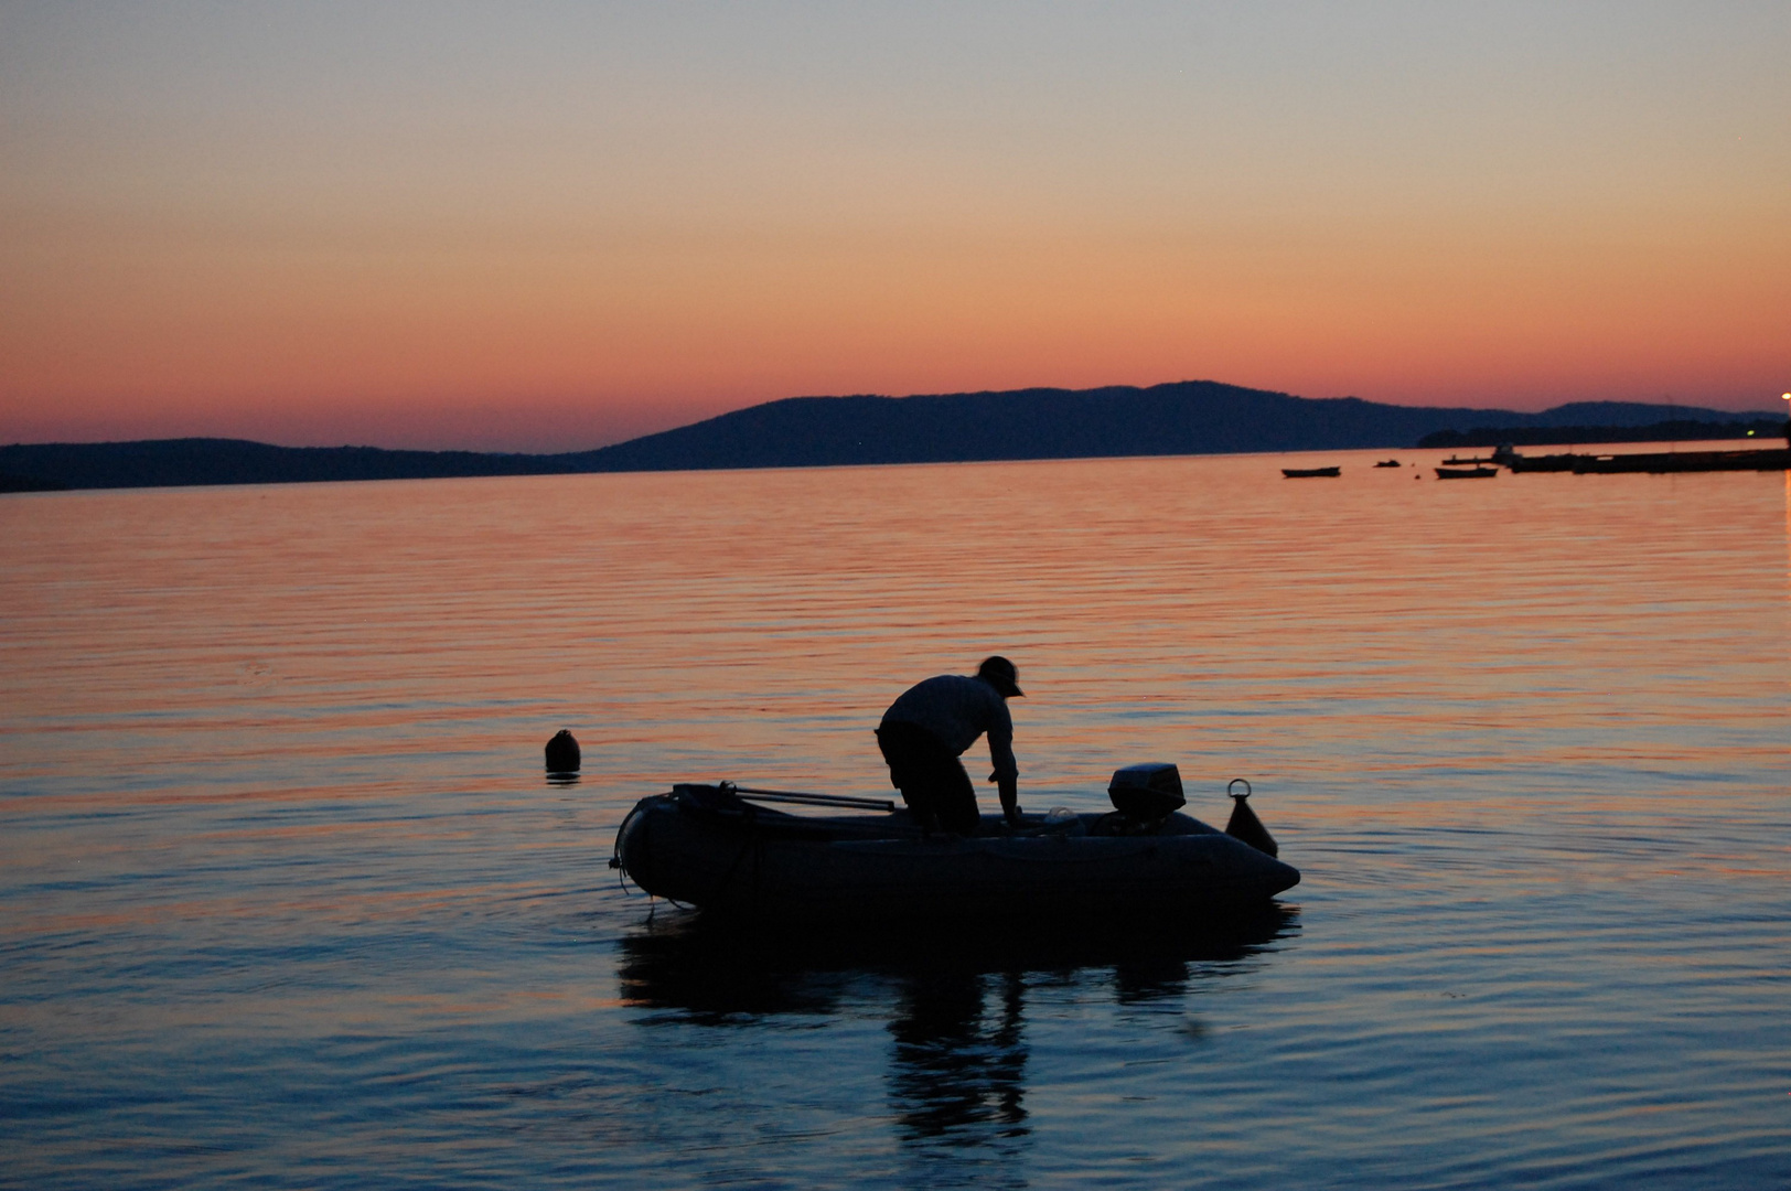
<path id="1" fill-rule="evenodd" d="M 996 1010 L 985 1005 L 996 990 Z M 908 1137 L 1026 1134 L 1024 983 L 1019 973 L 904 976 L 890 1035 L 890 1101 Z"/>

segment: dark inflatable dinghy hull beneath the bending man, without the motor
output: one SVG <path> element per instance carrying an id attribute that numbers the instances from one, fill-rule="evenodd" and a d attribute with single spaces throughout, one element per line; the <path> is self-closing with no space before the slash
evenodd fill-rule
<path id="1" fill-rule="evenodd" d="M 1107 818 L 1010 833 L 990 815 L 983 835 L 922 838 L 906 811 L 795 817 L 670 793 L 630 811 L 616 861 L 648 894 L 718 915 L 840 922 L 1202 919 L 1300 879 L 1187 815 L 1150 835 L 1093 835 Z"/>

